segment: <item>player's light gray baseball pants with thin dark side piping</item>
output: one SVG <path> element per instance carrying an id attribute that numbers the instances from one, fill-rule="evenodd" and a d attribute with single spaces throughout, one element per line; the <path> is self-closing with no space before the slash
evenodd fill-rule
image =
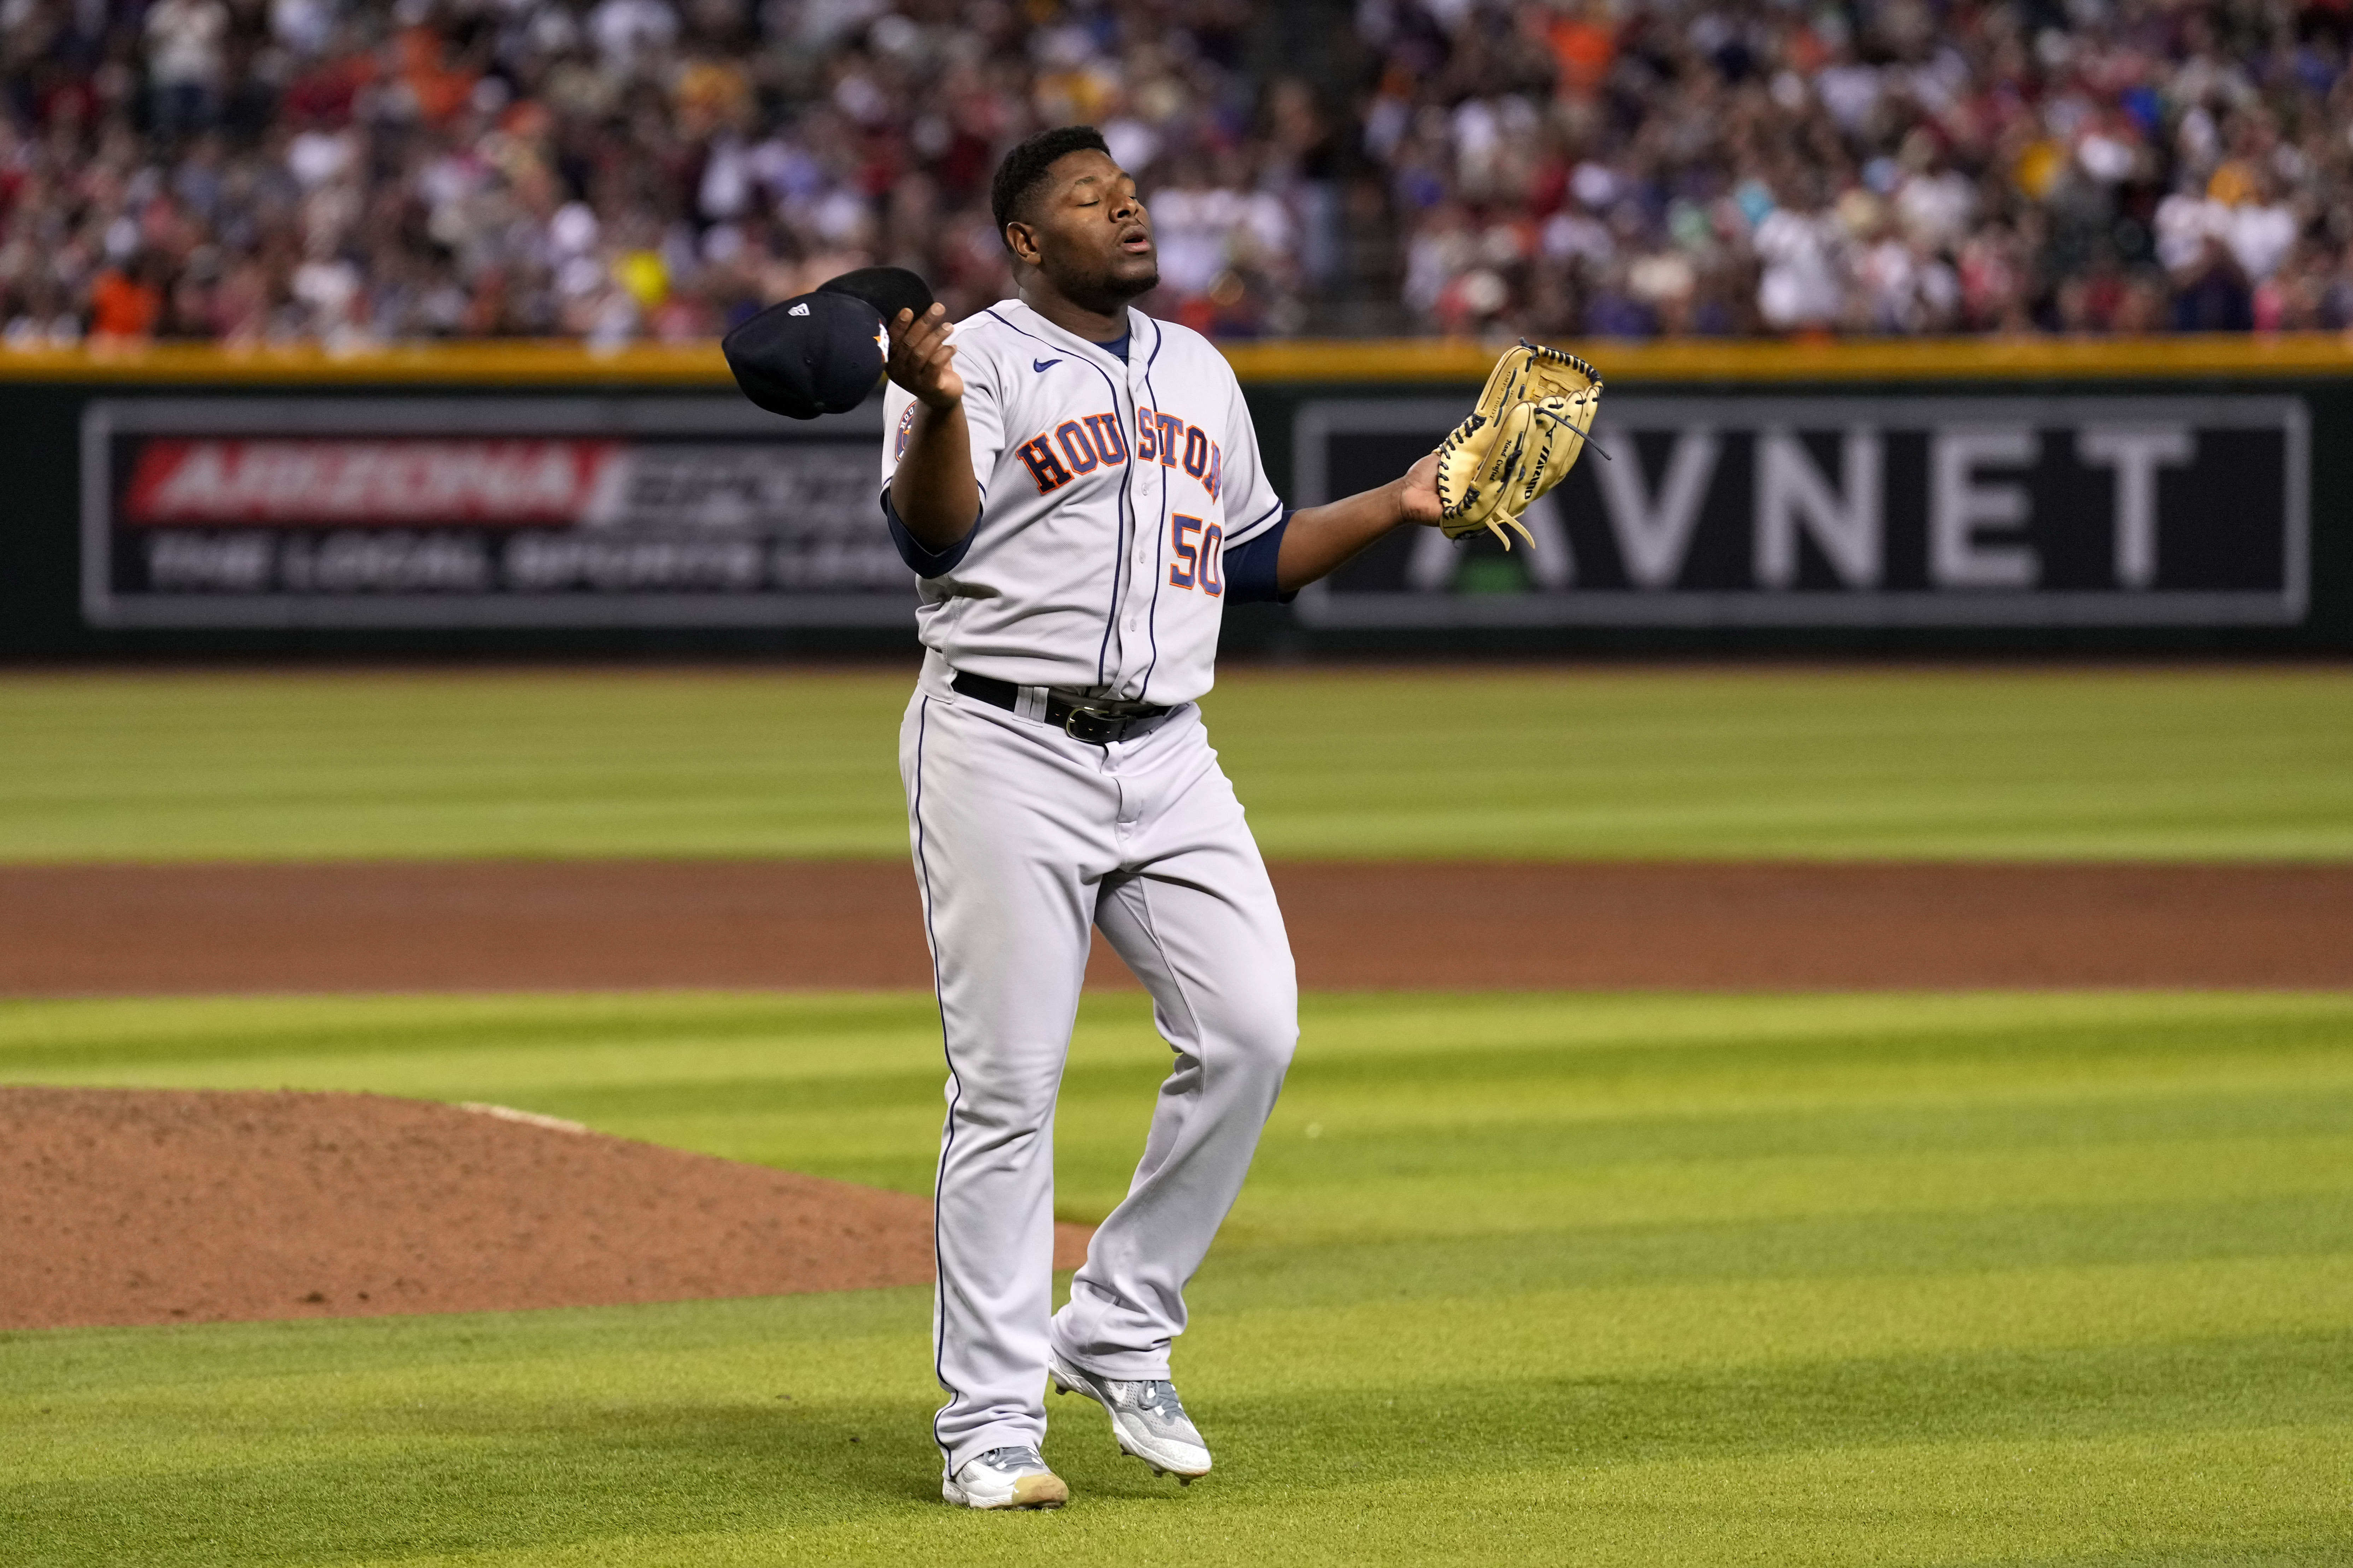
<path id="1" fill-rule="evenodd" d="M 1233 1208 L 1299 1039 L 1266 863 L 1186 703 L 1087 745 L 955 693 L 936 654 L 899 731 L 939 985 L 932 1436 L 953 1474 L 1045 1436 L 1052 1342 L 1106 1378 L 1167 1378 L 1184 1286 Z M 1099 926 L 1153 997 L 1174 1065 L 1127 1199 L 1052 1312 L 1054 1093 Z"/>

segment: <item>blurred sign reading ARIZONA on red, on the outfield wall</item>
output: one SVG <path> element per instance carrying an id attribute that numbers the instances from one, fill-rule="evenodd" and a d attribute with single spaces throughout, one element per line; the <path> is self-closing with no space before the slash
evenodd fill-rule
<path id="1" fill-rule="evenodd" d="M 94 625 L 904 625 L 878 409 L 739 397 L 106 400 Z"/>

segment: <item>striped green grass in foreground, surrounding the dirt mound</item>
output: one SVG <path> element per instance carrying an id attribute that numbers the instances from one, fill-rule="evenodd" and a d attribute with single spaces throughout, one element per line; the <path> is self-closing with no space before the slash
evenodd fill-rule
<path id="1" fill-rule="evenodd" d="M 1061 1201 L 1160 1072 L 1089 997 Z M 522 1105 L 922 1190 L 920 997 L 0 1006 L 0 1081 Z M 2353 997 L 1311 997 L 1179 1349 L 941 1507 L 927 1293 L 0 1335 L 7 1563 L 2332 1563 Z M 1087 1408 L 1092 1410 L 1092 1406 Z"/>

